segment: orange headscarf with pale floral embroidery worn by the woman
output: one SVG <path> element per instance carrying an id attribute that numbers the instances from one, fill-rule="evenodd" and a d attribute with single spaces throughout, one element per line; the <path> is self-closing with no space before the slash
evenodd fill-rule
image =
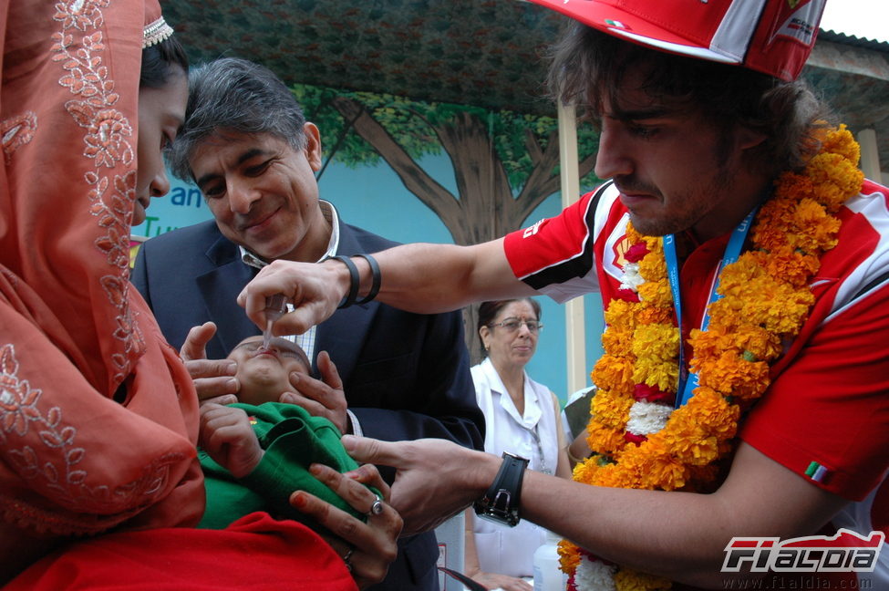
<path id="1" fill-rule="evenodd" d="M 129 285 L 157 0 L 0 3 L 0 515 L 23 535 L 194 524 L 197 399 Z"/>

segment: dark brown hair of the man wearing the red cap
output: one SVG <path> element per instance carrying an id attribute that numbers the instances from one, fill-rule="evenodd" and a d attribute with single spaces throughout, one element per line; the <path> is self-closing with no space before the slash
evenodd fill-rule
<path id="1" fill-rule="evenodd" d="M 765 135 L 751 150 L 755 160 L 750 165 L 772 174 L 799 169 L 815 147 L 816 121 L 830 117 L 801 80 L 784 82 L 746 67 L 670 54 L 579 23 L 553 47 L 551 57 L 551 92 L 564 104 L 584 109 L 594 122 L 602 116 L 605 99 L 620 104 L 625 76 L 641 72 L 642 89 L 665 105 L 701 113 L 717 129 L 737 124 Z"/>

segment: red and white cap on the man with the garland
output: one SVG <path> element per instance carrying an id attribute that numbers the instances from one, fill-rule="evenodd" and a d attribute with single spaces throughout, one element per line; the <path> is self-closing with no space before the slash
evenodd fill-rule
<path id="1" fill-rule="evenodd" d="M 531 0 L 641 45 L 800 75 L 827 0 Z M 838 0 L 833 0 L 837 2 Z"/>

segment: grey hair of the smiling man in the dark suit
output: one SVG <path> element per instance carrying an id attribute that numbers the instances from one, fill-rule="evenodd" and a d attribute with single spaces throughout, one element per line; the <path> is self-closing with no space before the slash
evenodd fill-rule
<path id="1" fill-rule="evenodd" d="M 175 176 L 193 180 L 191 154 L 220 131 L 271 134 L 302 150 L 304 126 L 303 109 L 272 70 L 246 59 L 222 57 L 191 69 L 185 123 L 167 162 Z"/>

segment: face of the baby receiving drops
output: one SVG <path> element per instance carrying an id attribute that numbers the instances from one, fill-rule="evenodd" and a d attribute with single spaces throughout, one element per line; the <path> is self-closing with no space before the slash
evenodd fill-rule
<path id="1" fill-rule="evenodd" d="M 228 356 L 238 362 L 236 378 L 241 384 L 238 399 L 247 404 L 277 402 L 290 385 L 292 372 L 308 374 L 309 361 L 303 349 L 285 338 L 274 337 L 263 348 L 263 337 L 247 337 Z"/>

